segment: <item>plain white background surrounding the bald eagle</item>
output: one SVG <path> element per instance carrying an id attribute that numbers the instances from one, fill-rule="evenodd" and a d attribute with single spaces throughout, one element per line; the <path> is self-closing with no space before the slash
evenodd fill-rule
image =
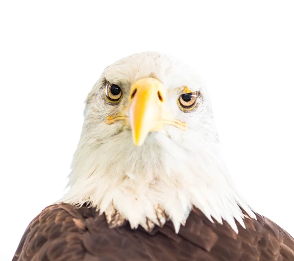
<path id="1" fill-rule="evenodd" d="M 151 50 L 195 67 L 237 185 L 294 235 L 293 14 L 282 0 L 1 2 L 0 260 L 62 196 L 103 68 Z"/>

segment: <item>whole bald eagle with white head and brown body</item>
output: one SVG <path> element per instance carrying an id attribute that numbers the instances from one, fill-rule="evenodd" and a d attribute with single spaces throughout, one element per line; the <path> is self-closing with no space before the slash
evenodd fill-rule
<path id="1" fill-rule="evenodd" d="M 128 56 L 85 103 L 69 191 L 31 221 L 13 261 L 294 261 L 294 239 L 234 186 L 188 65 Z"/>

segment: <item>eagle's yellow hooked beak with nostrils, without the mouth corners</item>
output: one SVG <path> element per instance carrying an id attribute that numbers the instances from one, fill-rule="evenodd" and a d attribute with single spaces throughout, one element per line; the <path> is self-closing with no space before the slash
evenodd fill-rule
<path id="1" fill-rule="evenodd" d="M 129 121 L 133 142 L 141 146 L 150 131 L 162 128 L 165 88 L 154 78 L 144 78 L 131 88 Z"/>

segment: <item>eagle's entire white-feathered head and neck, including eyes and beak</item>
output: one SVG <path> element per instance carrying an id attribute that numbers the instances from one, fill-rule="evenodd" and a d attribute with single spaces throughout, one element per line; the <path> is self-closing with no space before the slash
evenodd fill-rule
<path id="1" fill-rule="evenodd" d="M 84 116 L 62 202 L 147 230 L 171 219 L 177 231 L 194 206 L 234 229 L 239 206 L 254 216 L 222 162 L 207 91 L 187 65 L 155 52 L 123 58 L 105 68 Z"/>

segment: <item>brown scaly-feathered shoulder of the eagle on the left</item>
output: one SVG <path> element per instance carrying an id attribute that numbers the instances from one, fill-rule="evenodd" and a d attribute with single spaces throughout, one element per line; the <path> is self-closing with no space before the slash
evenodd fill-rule
<path id="1" fill-rule="evenodd" d="M 12 261 L 86 261 L 82 236 L 87 215 L 90 209 L 63 203 L 45 208 L 26 228 Z"/>

